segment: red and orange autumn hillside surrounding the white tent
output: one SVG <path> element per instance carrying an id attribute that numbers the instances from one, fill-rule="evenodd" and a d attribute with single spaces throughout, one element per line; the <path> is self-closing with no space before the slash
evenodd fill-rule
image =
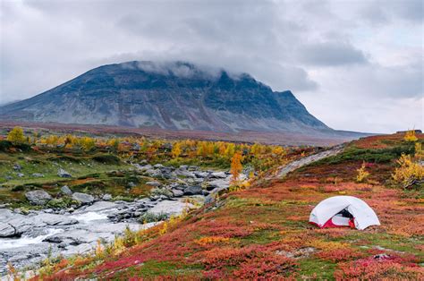
<path id="1" fill-rule="evenodd" d="M 282 180 L 234 189 L 195 212 L 129 232 L 96 254 L 48 262 L 42 277 L 422 279 L 423 187 L 404 190 L 391 181 L 402 153 L 420 151 L 401 134 L 353 141 L 340 155 Z M 363 163 L 369 177 L 357 183 Z M 381 226 L 359 231 L 308 223 L 320 200 L 341 194 L 365 200 Z"/>

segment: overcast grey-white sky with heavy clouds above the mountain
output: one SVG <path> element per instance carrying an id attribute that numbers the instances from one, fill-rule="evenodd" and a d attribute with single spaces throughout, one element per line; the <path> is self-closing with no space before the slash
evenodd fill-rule
<path id="1" fill-rule="evenodd" d="M 421 0 L 0 2 L 0 103 L 102 64 L 182 60 L 291 89 L 335 129 L 423 129 Z"/>

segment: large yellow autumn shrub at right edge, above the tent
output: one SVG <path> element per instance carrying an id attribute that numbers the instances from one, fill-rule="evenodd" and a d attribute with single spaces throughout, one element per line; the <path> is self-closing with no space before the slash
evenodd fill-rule
<path id="1" fill-rule="evenodd" d="M 411 188 L 413 185 L 423 183 L 424 166 L 412 160 L 411 155 L 403 154 L 397 160 L 398 167 L 394 170 L 392 178 L 394 183 L 403 187 L 403 189 Z"/>

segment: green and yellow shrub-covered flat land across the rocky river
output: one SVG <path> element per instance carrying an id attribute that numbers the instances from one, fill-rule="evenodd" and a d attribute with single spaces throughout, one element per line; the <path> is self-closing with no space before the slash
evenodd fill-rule
<path id="1" fill-rule="evenodd" d="M 131 166 L 133 163 L 229 170 L 235 161 L 237 166 L 232 168 L 235 181 L 242 167 L 251 175 L 259 176 L 302 151 L 311 153 L 313 150 L 225 141 L 24 133 L 22 128 L 15 127 L 0 136 L 0 203 L 8 203 L 11 208 L 37 209 L 40 207 L 30 205 L 24 193 L 44 189 L 55 198 L 50 205 L 67 207 L 75 202 L 60 196 L 60 187 L 64 185 L 74 192 L 98 196 L 108 193 L 116 200 L 133 200 L 146 196 L 151 189 L 146 183 L 155 180 L 140 175 Z M 72 177 L 61 177 L 57 174 L 58 168 Z"/>

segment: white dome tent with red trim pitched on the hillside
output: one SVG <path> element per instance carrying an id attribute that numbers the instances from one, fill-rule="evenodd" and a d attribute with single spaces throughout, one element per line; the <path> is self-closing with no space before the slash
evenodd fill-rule
<path id="1" fill-rule="evenodd" d="M 335 196 L 322 200 L 312 209 L 310 223 L 320 228 L 351 226 L 363 230 L 380 222 L 367 203 L 352 196 Z"/>

